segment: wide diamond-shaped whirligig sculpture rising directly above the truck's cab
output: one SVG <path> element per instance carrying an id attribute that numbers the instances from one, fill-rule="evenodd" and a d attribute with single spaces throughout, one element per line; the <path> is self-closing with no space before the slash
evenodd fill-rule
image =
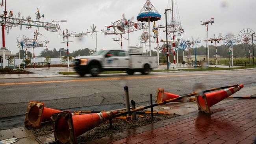
<path id="1" fill-rule="evenodd" d="M 102 32 L 104 32 L 105 35 L 120 34 L 121 39 L 113 38 L 113 40 L 116 42 L 121 41 L 121 49 L 122 49 L 122 41 L 123 41 L 122 35 L 128 33 L 128 37 L 129 37 L 130 32 L 141 30 L 141 29 L 143 29 L 144 26 L 145 26 L 145 23 L 135 23 L 135 22 L 132 22 L 131 20 L 122 18 L 121 20 L 117 20 L 116 22 L 113 22 L 112 25 L 106 26 L 107 29 L 106 30 L 102 29 Z M 113 31 L 109 32 L 110 28 L 113 28 Z M 124 38 L 124 40 L 129 41 L 129 38 L 128 39 Z"/>

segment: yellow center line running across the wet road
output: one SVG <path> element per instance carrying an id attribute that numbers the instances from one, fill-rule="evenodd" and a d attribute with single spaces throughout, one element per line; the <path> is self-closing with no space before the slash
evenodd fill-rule
<path id="1" fill-rule="evenodd" d="M 141 77 L 125 77 L 123 79 L 145 79 L 145 78 L 157 78 L 157 77 L 180 77 L 180 76 L 207 76 L 207 75 L 221 75 L 221 74 L 233 74 L 233 73 L 211 73 L 211 74 L 180 74 L 180 75 L 168 75 L 168 76 L 141 76 Z M 237 74 L 256 74 L 256 72 L 238 72 Z M 0 85 L 26 85 L 37 83 L 67 83 L 67 82 L 79 82 L 79 81 L 105 81 L 105 80 L 117 80 L 122 78 L 103 78 L 103 79 L 74 79 L 63 81 L 37 81 L 37 82 L 22 82 L 22 83 L 0 83 Z"/>

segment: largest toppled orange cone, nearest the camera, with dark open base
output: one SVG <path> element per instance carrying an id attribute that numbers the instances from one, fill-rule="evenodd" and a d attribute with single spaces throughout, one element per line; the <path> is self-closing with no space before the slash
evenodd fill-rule
<path id="1" fill-rule="evenodd" d="M 54 113 L 51 119 L 56 143 L 76 144 L 76 137 L 111 119 L 117 113 L 119 112 L 90 113 L 73 116 L 70 111 Z"/>

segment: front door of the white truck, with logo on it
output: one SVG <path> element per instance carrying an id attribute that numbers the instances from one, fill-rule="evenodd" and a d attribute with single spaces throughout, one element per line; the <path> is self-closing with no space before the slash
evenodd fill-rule
<path id="1" fill-rule="evenodd" d="M 105 68 L 117 68 L 119 64 L 119 59 L 117 58 L 116 50 L 109 50 L 105 55 L 104 59 Z"/>

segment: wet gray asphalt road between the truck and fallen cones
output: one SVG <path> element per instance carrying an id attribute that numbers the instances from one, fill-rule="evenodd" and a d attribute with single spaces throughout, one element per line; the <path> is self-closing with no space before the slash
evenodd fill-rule
<path id="1" fill-rule="evenodd" d="M 255 85 L 256 70 L 0 79 L 0 118 L 24 115 L 29 101 L 42 101 L 46 107 L 58 110 L 104 110 L 104 106 L 111 110 L 125 107 L 124 85 L 129 86 L 130 100 L 142 105 L 149 103 L 150 94 L 155 99 L 157 88 L 182 95 L 193 92 L 197 84 L 203 86 L 202 90 Z"/>

